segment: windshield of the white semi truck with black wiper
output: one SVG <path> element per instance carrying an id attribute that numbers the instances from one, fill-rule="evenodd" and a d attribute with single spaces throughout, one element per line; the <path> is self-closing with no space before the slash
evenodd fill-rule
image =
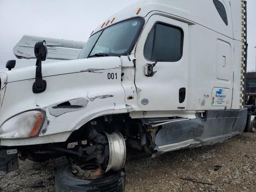
<path id="1" fill-rule="evenodd" d="M 128 54 L 138 38 L 141 27 L 142 19 L 134 18 L 97 32 L 88 39 L 78 59 Z"/>

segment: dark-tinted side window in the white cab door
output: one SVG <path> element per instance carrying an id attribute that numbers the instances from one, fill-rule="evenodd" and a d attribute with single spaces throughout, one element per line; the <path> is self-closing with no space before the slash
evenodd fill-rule
<path id="1" fill-rule="evenodd" d="M 169 61 L 180 60 L 183 49 L 183 31 L 174 26 L 157 23 L 150 33 L 144 47 L 147 60 Z"/>

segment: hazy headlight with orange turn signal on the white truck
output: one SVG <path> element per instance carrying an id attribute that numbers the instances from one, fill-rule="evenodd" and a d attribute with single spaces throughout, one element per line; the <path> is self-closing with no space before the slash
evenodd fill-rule
<path id="1" fill-rule="evenodd" d="M 44 121 L 44 114 L 41 111 L 33 110 L 18 114 L 2 124 L 0 127 L 0 139 L 37 136 Z"/>

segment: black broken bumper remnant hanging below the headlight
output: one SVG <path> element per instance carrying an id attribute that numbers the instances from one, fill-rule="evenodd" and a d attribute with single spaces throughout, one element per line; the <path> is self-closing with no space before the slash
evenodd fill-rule
<path id="1" fill-rule="evenodd" d="M 17 149 L 0 148 L 0 171 L 9 173 L 19 168 Z"/>

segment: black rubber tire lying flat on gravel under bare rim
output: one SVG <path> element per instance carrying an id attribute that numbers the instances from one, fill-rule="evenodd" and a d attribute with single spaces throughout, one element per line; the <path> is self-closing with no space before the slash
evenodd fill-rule
<path id="1" fill-rule="evenodd" d="M 123 192 L 126 172 L 107 172 L 99 179 L 78 179 L 71 175 L 70 165 L 55 174 L 55 192 Z"/>

